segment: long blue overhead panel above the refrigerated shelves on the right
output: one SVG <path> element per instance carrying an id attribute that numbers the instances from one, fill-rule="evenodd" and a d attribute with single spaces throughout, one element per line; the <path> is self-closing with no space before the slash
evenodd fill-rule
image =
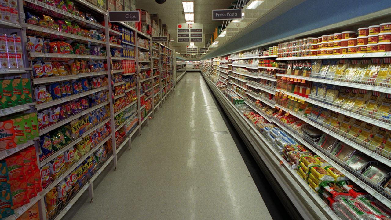
<path id="1" fill-rule="evenodd" d="M 240 38 L 235 39 L 234 36 L 233 41 L 228 40 L 203 59 L 230 54 L 389 8 L 391 0 L 305 0 Z"/>

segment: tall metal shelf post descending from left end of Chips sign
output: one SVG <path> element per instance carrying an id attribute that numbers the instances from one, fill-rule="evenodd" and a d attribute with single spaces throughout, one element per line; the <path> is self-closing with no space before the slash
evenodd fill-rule
<path id="1" fill-rule="evenodd" d="M 108 73 L 108 79 L 109 79 L 109 101 L 110 101 L 110 112 L 114 113 L 114 94 L 113 94 L 113 81 L 111 79 L 112 71 L 111 71 L 111 65 L 113 65 L 113 60 L 111 60 L 111 54 L 110 54 L 110 42 L 109 42 L 109 18 L 108 14 L 106 13 L 104 15 L 104 24 L 105 24 L 105 31 L 106 31 L 106 56 L 107 56 L 107 73 Z M 114 163 L 114 170 L 117 170 L 117 141 L 115 139 L 115 121 L 114 121 L 114 114 L 110 114 L 110 127 L 111 127 L 111 146 L 113 148 L 113 163 Z"/>

